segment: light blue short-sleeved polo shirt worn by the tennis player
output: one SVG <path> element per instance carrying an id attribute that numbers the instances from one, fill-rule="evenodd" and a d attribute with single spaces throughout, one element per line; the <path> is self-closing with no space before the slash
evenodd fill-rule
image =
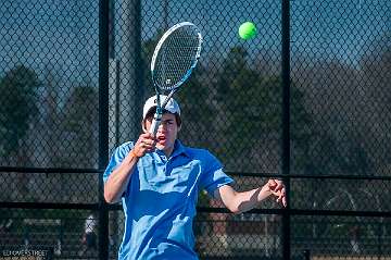
<path id="1" fill-rule="evenodd" d="M 104 182 L 133 147 L 129 141 L 114 151 Z M 205 189 L 213 196 L 232 182 L 212 153 L 179 140 L 171 158 L 160 150 L 140 158 L 122 198 L 126 219 L 118 259 L 198 259 L 192 231 L 198 194 Z"/>

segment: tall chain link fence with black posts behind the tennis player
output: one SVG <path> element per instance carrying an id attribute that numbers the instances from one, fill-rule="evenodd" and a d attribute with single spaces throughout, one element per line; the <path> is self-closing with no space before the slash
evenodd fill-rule
<path id="1" fill-rule="evenodd" d="M 100 154 L 141 133 L 153 49 L 182 21 L 204 42 L 176 96 L 179 138 L 215 153 L 238 190 L 287 177 L 281 63 L 290 62 L 289 208 L 267 200 L 232 215 L 201 193 L 200 258 L 391 258 L 390 3 L 294 0 L 282 17 L 287 2 L 1 1 L 0 259 L 116 258 L 124 215 L 102 205 Z M 237 32 L 245 21 L 257 27 L 247 41 Z"/>

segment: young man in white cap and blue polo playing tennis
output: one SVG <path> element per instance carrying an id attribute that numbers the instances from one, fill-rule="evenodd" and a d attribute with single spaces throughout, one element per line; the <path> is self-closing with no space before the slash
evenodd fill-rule
<path id="1" fill-rule="evenodd" d="M 126 216 L 118 259 L 198 259 L 192 220 L 202 189 L 234 213 L 251 210 L 270 195 L 286 205 L 280 181 L 238 193 L 212 153 L 184 146 L 177 139 L 181 119 L 174 99 L 152 136 L 149 128 L 155 109 L 155 97 L 151 97 L 143 107 L 143 134 L 114 151 L 103 176 L 105 200 L 122 199 Z"/>

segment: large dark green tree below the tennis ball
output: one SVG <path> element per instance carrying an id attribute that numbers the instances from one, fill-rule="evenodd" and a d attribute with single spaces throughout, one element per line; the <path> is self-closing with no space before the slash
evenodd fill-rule
<path id="1" fill-rule="evenodd" d="M 274 165 L 273 171 L 277 171 L 282 126 L 281 81 L 250 69 L 247 57 L 242 47 L 232 48 L 218 77 L 217 97 L 223 109 L 217 122 L 218 132 L 224 136 L 219 153 L 225 154 L 228 162 L 241 162 L 234 165 L 236 170 L 241 164 L 242 171 L 270 171 L 270 166 L 262 166 L 264 161 L 263 164 L 269 163 Z M 290 112 L 292 143 L 299 150 L 307 149 L 311 116 L 304 108 L 303 92 L 294 84 L 291 85 Z M 260 153 L 266 152 L 272 156 L 263 159 Z M 302 161 L 298 157 L 293 162 L 299 165 Z"/>

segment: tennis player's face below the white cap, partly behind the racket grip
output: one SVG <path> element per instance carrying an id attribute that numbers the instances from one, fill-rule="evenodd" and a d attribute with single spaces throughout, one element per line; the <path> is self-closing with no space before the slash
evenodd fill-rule
<path id="1" fill-rule="evenodd" d="M 152 122 L 147 120 L 146 127 L 149 131 Z M 171 154 L 174 150 L 174 144 L 178 135 L 178 124 L 175 114 L 164 113 L 156 133 L 156 149 Z"/>

